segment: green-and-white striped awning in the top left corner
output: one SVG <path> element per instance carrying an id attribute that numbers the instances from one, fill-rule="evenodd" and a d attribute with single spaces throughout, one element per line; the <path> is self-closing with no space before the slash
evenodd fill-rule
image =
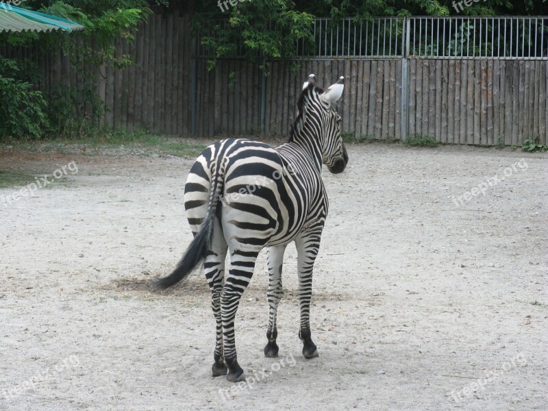
<path id="1" fill-rule="evenodd" d="M 33 12 L 0 2 L 0 33 L 2 32 L 51 32 L 62 30 L 72 32 L 85 27 L 50 14 Z"/>

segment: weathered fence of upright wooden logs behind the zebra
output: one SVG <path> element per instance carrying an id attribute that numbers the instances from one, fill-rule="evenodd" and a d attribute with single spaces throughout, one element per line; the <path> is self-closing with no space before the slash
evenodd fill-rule
<path id="1" fill-rule="evenodd" d="M 134 42 L 117 41 L 116 56 L 129 55 L 136 64 L 96 68 L 96 90 L 107 108 L 103 123 L 184 136 L 288 136 L 303 80 L 314 73 L 323 87 L 346 77 L 338 111 L 343 132 L 356 137 L 401 140 L 418 133 L 470 145 L 520 145 L 534 136 L 548 141 L 543 46 L 536 60 L 404 53 L 275 60 L 266 77 L 237 58 L 221 59 L 208 71 L 208 59 L 194 49 L 186 16 L 151 16 Z M 1 46 L 0 54 L 32 58 L 32 51 Z M 66 56 L 35 60 L 44 73 L 38 88 L 79 89 L 82 74 Z M 78 110 L 86 115 L 88 108 Z"/>

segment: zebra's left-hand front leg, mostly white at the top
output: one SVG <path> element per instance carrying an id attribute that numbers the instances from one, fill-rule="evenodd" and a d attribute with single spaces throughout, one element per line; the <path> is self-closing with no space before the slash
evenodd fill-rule
<path id="1" fill-rule="evenodd" d="M 269 247 L 266 249 L 266 260 L 269 265 L 269 328 L 266 330 L 268 343 L 264 347 L 264 356 L 275 358 L 278 356 L 279 347 L 276 344 L 278 330 L 276 328 L 276 317 L 279 300 L 282 299 L 282 266 L 284 264 L 285 245 Z"/>

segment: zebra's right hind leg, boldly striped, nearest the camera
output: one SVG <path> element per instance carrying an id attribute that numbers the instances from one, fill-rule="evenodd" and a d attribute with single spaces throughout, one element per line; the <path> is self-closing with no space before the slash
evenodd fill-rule
<path id="1" fill-rule="evenodd" d="M 221 291 L 221 317 L 223 319 L 223 348 L 225 350 L 225 362 L 228 366 L 227 379 L 230 382 L 245 380 L 242 367 L 238 364 L 236 356 L 236 341 L 234 338 L 234 319 L 245 288 L 249 284 L 255 269 L 255 262 L 260 248 L 253 251 L 230 249 L 230 270 L 225 286 Z"/>

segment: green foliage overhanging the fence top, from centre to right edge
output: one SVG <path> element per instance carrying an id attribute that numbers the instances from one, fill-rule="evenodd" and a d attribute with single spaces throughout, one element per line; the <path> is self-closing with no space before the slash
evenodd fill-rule
<path id="1" fill-rule="evenodd" d="M 458 3 L 460 0 L 456 0 Z M 548 13 L 547 0 L 471 1 L 464 10 L 453 0 L 208 0 L 183 1 L 192 12 L 195 32 L 212 60 L 239 53 L 252 60 L 291 58 L 297 40 L 310 42 L 315 17 L 358 20 L 375 16 L 486 16 L 541 15 Z M 204 27 L 206 29 L 204 29 Z"/>

